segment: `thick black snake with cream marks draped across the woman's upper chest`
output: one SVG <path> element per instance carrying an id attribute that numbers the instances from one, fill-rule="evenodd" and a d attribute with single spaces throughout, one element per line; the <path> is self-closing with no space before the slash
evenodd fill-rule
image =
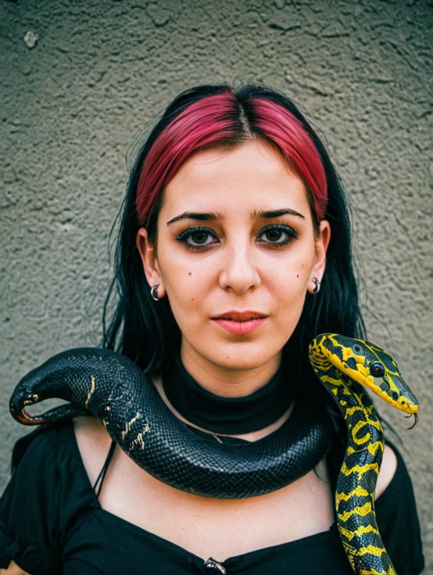
<path id="1" fill-rule="evenodd" d="M 29 405 L 50 397 L 70 403 L 41 416 Z M 13 417 L 35 425 L 91 413 L 142 469 L 189 493 L 217 499 L 281 489 L 311 471 L 331 449 L 324 413 L 294 409 L 259 443 L 225 444 L 194 434 L 168 409 L 155 385 L 127 357 L 100 348 L 69 350 L 21 379 L 9 402 Z"/>

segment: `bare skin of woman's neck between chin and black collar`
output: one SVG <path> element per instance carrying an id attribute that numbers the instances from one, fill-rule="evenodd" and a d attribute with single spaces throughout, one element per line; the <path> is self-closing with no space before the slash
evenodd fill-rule
<path id="1" fill-rule="evenodd" d="M 262 388 L 277 373 L 282 352 L 268 361 L 254 358 L 253 366 L 251 362 L 248 366 L 248 358 L 220 365 L 198 354 L 182 339 L 180 358 L 191 377 L 208 392 L 220 397 L 245 397 Z"/>

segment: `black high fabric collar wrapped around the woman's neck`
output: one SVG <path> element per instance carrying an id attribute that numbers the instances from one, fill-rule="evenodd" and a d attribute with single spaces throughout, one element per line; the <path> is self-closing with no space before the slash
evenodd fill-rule
<path id="1" fill-rule="evenodd" d="M 199 385 L 186 371 L 179 353 L 162 374 L 164 392 L 186 420 L 208 431 L 240 435 L 261 430 L 285 413 L 293 388 L 283 362 L 277 373 L 246 397 L 221 397 Z"/>

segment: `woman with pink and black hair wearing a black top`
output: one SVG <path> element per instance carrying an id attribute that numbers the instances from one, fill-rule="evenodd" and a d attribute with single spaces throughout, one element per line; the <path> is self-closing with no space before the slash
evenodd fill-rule
<path id="1" fill-rule="evenodd" d="M 352 573 L 333 502 L 346 425 L 307 358 L 317 333 L 363 335 L 350 239 L 338 176 L 292 102 L 254 86 L 179 95 L 129 179 L 105 345 L 210 442 L 260 441 L 304 409 L 327 412 L 332 449 L 290 485 L 220 500 L 151 477 L 93 417 L 51 426 L 14 450 L 0 573 Z M 390 445 L 375 497 L 397 572 L 420 573 Z"/>

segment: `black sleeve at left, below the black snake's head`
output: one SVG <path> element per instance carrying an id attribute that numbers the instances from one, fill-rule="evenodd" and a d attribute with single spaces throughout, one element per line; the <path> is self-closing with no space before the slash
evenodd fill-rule
<path id="1" fill-rule="evenodd" d="M 93 493 L 74 444 L 72 421 L 37 428 L 16 443 L 0 498 L 0 568 L 60 573 L 62 546 Z"/>

